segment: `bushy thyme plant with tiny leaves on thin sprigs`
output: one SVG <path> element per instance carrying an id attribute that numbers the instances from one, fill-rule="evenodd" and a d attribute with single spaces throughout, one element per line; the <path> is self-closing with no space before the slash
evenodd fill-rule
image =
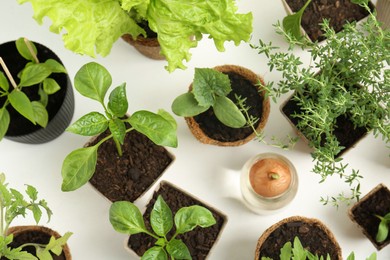
<path id="1" fill-rule="evenodd" d="M 294 92 L 292 100 L 300 112 L 293 117 L 314 148 L 313 172 L 321 176 L 321 182 L 328 176 L 339 175 L 350 186 L 350 196 L 340 193 L 337 197 L 321 198 L 324 204 L 332 202 L 335 206 L 359 199 L 361 178 L 359 171 L 346 173 L 348 164 L 337 157 L 344 149 L 333 134 L 337 119 L 346 115 L 355 127 L 372 130 L 375 137 L 381 135 L 386 143 L 390 141 L 390 31 L 382 30 L 365 1 L 361 5 L 370 13 L 361 27 L 347 24 L 336 34 L 324 20 L 326 44 L 312 43 L 306 38 L 297 40 L 277 24 L 278 33 L 289 41 L 287 52 L 276 52 L 278 48 L 272 43 L 261 40 L 258 46 L 252 46 L 269 58 L 271 71 L 282 73 L 277 87 L 272 82 L 264 86 L 273 100 Z M 310 47 L 312 60 L 308 67 L 302 68 L 302 61 L 292 53 L 296 45 Z"/>

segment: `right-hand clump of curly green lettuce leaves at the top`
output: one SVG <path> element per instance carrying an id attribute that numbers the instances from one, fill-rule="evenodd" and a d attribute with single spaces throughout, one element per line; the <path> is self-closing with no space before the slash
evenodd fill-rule
<path id="1" fill-rule="evenodd" d="M 214 40 L 218 51 L 224 51 L 224 42 L 249 41 L 252 33 L 252 14 L 237 14 L 234 0 L 154 0 L 150 2 L 147 19 L 149 27 L 158 35 L 161 54 L 168 71 L 185 69 L 190 48 L 197 46 L 203 34 Z M 195 37 L 196 40 L 193 40 Z"/>

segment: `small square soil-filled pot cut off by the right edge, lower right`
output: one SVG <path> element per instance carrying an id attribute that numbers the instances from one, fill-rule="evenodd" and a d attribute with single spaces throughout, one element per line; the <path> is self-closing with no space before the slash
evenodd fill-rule
<path id="1" fill-rule="evenodd" d="M 381 250 L 390 244 L 390 236 L 383 242 L 377 242 L 379 218 L 390 212 L 390 191 L 379 184 L 351 207 L 348 212 L 350 219 L 358 225 L 363 234 L 371 241 L 376 249 Z"/>

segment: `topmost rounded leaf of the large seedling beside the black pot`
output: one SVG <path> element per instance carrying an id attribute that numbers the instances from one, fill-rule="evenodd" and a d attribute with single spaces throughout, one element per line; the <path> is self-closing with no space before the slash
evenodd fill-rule
<path id="1" fill-rule="evenodd" d="M 111 83 L 112 78 L 108 70 L 96 62 L 82 66 L 74 78 L 74 86 L 81 95 L 101 104 L 104 104 L 104 97 Z"/>

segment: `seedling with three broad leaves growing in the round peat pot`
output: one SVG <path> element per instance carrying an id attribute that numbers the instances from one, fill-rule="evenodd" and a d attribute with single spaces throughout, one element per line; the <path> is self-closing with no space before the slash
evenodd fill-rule
<path id="1" fill-rule="evenodd" d="M 227 97 L 232 91 L 229 77 L 217 70 L 195 68 L 192 90 L 178 96 L 172 103 L 172 111 L 178 116 L 192 117 L 213 108 L 221 123 L 233 128 L 246 125 L 245 116 Z"/>

